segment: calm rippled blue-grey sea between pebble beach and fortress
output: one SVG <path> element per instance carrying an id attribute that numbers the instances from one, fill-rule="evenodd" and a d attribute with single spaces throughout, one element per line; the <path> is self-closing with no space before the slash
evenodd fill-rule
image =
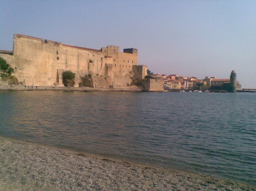
<path id="1" fill-rule="evenodd" d="M 256 94 L 0 91 L 0 135 L 256 183 Z"/>

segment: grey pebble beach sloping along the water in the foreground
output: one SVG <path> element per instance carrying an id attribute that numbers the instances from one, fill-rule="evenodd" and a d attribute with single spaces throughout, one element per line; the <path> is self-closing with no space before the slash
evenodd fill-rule
<path id="1" fill-rule="evenodd" d="M 0 190 L 247 190 L 255 185 L 0 137 Z"/>

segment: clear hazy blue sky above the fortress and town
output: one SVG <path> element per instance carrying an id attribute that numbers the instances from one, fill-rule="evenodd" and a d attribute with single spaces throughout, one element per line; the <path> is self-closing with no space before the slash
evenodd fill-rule
<path id="1" fill-rule="evenodd" d="M 256 89 L 256 0 L 0 0 L 0 50 L 14 34 L 135 48 L 154 74 L 228 79 L 234 69 Z"/>

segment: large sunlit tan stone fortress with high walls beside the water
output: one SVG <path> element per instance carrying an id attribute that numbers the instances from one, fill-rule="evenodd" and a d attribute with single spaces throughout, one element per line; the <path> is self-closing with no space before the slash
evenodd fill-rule
<path id="1" fill-rule="evenodd" d="M 137 88 L 162 90 L 163 81 L 144 79 L 147 66 L 137 65 L 138 50 L 119 46 L 101 50 L 70 46 L 46 39 L 14 34 L 13 51 L 0 57 L 14 68 L 18 81 L 27 86 L 63 86 L 62 73 L 75 73 L 75 85 L 90 76 L 95 88 Z M 81 84 L 81 83 L 80 83 Z"/>

